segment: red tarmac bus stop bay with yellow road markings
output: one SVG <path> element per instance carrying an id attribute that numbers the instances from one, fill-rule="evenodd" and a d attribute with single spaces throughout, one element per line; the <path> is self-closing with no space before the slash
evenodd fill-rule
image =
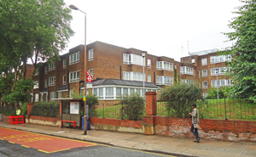
<path id="1" fill-rule="evenodd" d="M 0 139 L 9 141 L 10 143 L 18 143 L 25 147 L 38 149 L 44 153 L 54 153 L 66 149 L 96 145 L 96 143 L 88 143 L 61 137 L 52 137 L 3 127 L 0 127 Z"/>

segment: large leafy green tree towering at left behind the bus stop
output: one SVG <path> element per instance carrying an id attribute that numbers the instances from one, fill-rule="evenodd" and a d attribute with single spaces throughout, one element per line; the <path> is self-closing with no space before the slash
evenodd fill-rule
<path id="1" fill-rule="evenodd" d="M 38 60 L 58 59 L 73 36 L 72 16 L 63 0 L 4 0 L 0 1 L 0 10 L 0 76 L 12 76 L 2 79 L 1 84 L 13 88 L 26 78 L 28 59 L 34 69 Z"/>

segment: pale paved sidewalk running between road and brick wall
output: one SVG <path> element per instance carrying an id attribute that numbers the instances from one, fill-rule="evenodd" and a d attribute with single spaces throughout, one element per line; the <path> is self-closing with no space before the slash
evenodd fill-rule
<path id="1" fill-rule="evenodd" d="M 37 132 L 57 137 L 67 137 L 93 143 L 102 143 L 126 149 L 146 150 L 177 156 L 256 156 L 256 143 L 225 142 L 201 139 L 193 143 L 194 138 L 176 138 L 163 136 L 146 136 L 137 133 L 108 132 L 89 130 L 87 135 L 79 129 L 42 126 L 36 124 L 10 125 L 0 121 L 0 126 L 28 132 Z"/>

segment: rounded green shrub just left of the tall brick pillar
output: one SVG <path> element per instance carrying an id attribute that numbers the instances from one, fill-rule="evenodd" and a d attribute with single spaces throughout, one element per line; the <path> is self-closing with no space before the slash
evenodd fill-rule
<path id="1" fill-rule="evenodd" d="M 124 115 L 128 120 L 140 121 L 143 120 L 144 102 L 143 98 L 137 93 L 131 94 L 131 96 L 125 96 L 121 99 L 120 104 L 124 105 Z M 123 111 L 121 109 L 121 112 Z"/>

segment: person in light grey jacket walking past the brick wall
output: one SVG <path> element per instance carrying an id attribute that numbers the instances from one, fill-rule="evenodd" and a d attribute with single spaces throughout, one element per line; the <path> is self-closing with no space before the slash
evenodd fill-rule
<path id="1" fill-rule="evenodd" d="M 199 143 L 200 140 L 201 140 L 201 137 L 199 137 L 199 134 L 197 132 L 197 129 L 199 127 L 198 126 L 198 124 L 199 124 L 199 111 L 198 111 L 198 109 L 196 109 L 196 104 L 192 104 L 191 107 L 192 107 L 192 112 L 189 113 L 189 115 L 192 115 L 192 125 L 191 125 L 191 128 L 190 128 L 190 132 L 192 132 L 196 137 L 196 140 L 194 142 Z"/>

